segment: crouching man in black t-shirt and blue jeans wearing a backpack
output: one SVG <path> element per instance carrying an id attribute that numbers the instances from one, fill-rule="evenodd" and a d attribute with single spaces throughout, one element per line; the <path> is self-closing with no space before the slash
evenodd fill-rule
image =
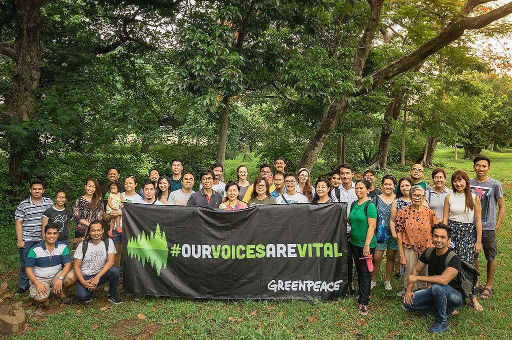
<path id="1" fill-rule="evenodd" d="M 461 269 L 459 255 L 454 256 L 446 265 L 446 257 L 452 252 L 448 249 L 452 230 L 449 226 L 438 223 L 432 226 L 432 240 L 435 249 L 426 249 L 409 276 L 409 284 L 403 295 L 403 308 L 409 311 L 431 311 L 435 314 L 431 333 L 442 333 L 449 329 L 448 316 L 464 303 L 462 289 L 456 282 Z M 423 268 L 429 266 L 429 276 L 418 276 Z M 412 292 L 416 281 L 432 284 L 432 288 Z"/>

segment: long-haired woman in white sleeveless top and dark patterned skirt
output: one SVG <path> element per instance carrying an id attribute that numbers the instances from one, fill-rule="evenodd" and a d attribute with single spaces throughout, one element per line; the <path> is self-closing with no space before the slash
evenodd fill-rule
<path id="1" fill-rule="evenodd" d="M 475 256 L 482 250 L 482 204 L 471 192 L 470 178 L 462 170 L 452 175 L 453 192 L 444 198 L 443 223 L 452 228 L 451 247 L 468 264 L 475 265 Z M 476 297 L 476 286 L 470 296 L 473 308 L 483 310 Z"/>

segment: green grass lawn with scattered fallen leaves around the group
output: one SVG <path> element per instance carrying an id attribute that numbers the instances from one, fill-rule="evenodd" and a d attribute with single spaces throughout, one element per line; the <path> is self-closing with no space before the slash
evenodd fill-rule
<path id="1" fill-rule="evenodd" d="M 349 297 L 329 302 L 298 301 L 190 301 L 178 298 L 145 298 L 135 302 L 132 296 L 121 295 L 123 304 L 111 306 L 104 292 L 96 293 L 92 304 L 59 305 L 39 310 L 29 305 L 27 295 L 7 297 L 5 302 L 25 302 L 28 328 L 24 340 L 55 338 L 88 339 L 423 339 L 461 338 L 495 339 L 512 337 L 512 302 L 509 279 L 512 275 L 512 150 L 502 153 L 484 152 L 492 159 L 489 175 L 503 183 L 507 213 L 499 233 L 498 269 L 492 298 L 481 301 L 484 311 L 474 312 L 471 307 L 460 308 L 460 314 L 450 318 L 452 329 L 442 335 L 432 336 L 426 330 L 433 323 L 432 315 L 403 311 L 401 299 L 396 296 L 401 285 L 393 280 L 393 291 L 382 288 L 382 271 L 378 286 L 372 291 L 370 314 L 357 313 L 355 298 Z M 241 159 L 226 162 L 226 174 L 232 178 L 234 168 Z M 257 160 L 247 161 L 255 169 Z M 446 168 L 449 176 L 456 169 L 472 172 L 472 162 L 454 161 L 453 149 L 436 153 L 435 163 Z M 396 167 L 396 175 L 407 173 L 408 168 Z M 227 176 L 226 176 L 227 177 Z M 253 176 L 250 176 L 253 177 Z M 425 171 L 430 179 L 430 171 Z M 481 268 L 485 260 L 481 257 Z M 9 282 L 9 293 L 17 287 L 17 274 L 12 268 L 2 277 Z M 484 282 L 485 273 L 481 281 Z M 105 307 L 108 307 L 105 309 Z M 20 335 L 6 336 L 19 339 Z"/>

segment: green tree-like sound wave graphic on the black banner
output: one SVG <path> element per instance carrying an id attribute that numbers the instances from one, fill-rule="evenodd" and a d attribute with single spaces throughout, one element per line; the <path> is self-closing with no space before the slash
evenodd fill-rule
<path id="1" fill-rule="evenodd" d="M 155 267 L 158 276 L 162 268 L 167 266 L 167 255 L 169 249 L 167 248 L 167 239 L 165 238 L 165 231 L 160 232 L 160 225 L 157 224 L 156 230 L 146 236 L 144 231 L 138 237 L 130 237 L 128 245 L 126 246 L 128 255 L 132 258 L 136 257 L 137 260 L 144 266 L 149 263 Z"/>

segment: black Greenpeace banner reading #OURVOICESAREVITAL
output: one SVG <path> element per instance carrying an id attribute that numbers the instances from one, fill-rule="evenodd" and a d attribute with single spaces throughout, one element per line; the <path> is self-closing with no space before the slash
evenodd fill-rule
<path id="1" fill-rule="evenodd" d="M 233 299 L 346 295 L 345 216 L 338 203 L 239 211 L 125 204 L 124 290 Z"/>

